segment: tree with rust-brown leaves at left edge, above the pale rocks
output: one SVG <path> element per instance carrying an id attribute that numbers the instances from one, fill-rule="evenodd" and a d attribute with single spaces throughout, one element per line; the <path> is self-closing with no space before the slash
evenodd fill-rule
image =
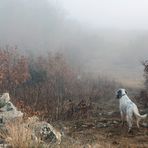
<path id="1" fill-rule="evenodd" d="M 0 49 L 1 91 L 15 91 L 16 87 L 29 79 L 27 58 L 19 55 L 16 48 Z"/>

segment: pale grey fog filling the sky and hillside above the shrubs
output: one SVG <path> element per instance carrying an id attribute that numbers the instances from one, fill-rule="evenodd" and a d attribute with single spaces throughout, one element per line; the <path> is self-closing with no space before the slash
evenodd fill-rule
<path id="1" fill-rule="evenodd" d="M 147 1 L 1 0 L 0 46 L 60 51 L 91 73 L 141 87 L 148 57 Z"/>

